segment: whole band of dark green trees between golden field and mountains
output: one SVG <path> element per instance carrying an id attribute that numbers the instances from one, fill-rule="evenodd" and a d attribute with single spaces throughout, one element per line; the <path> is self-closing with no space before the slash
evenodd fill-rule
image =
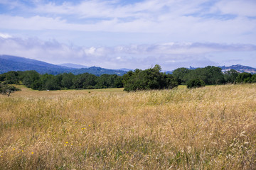
<path id="1" fill-rule="evenodd" d="M 36 71 L 6 72 L 0 74 L 1 86 L 4 84 L 23 84 L 34 90 L 60 90 L 60 89 L 105 89 L 121 88 L 124 91 L 137 91 L 148 89 L 173 89 L 179 84 L 187 84 L 188 88 L 198 87 L 198 84 L 236 84 L 255 83 L 256 74 L 239 73 L 234 69 L 223 73 L 219 67 L 208 66 L 197 69 L 178 68 L 173 74 L 161 72 L 156 65 L 150 69 L 135 69 L 123 76 L 116 74 L 84 73 L 75 75 L 63 73 L 58 75 L 39 74 Z M 191 85 L 192 84 L 192 85 Z"/>

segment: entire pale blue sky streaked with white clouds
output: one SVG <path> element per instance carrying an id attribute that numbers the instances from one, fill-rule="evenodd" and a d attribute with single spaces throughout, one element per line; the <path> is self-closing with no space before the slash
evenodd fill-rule
<path id="1" fill-rule="evenodd" d="M 255 0 L 0 0 L 0 55 L 108 69 L 256 67 Z"/>

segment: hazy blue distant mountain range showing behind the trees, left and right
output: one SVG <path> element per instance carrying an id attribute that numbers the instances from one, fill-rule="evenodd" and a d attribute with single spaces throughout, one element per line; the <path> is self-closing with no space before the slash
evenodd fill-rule
<path id="1" fill-rule="evenodd" d="M 242 66 L 240 64 L 233 65 L 229 67 L 220 66 L 223 72 L 230 69 L 235 69 L 238 72 L 249 72 L 252 74 L 256 73 L 256 69 L 253 67 Z M 195 67 L 190 67 L 189 69 L 196 69 Z M 40 74 L 61 74 L 72 72 L 73 74 L 90 73 L 100 76 L 102 74 L 117 74 L 122 76 L 123 74 L 129 72 L 132 69 L 104 69 L 101 67 L 87 67 L 80 64 L 50 64 L 47 62 L 41 62 L 38 60 L 31 60 L 24 57 L 16 57 L 11 55 L 0 55 L 0 74 L 9 71 L 26 71 L 26 70 L 36 70 Z M 171 74 L 173 71 L 164 71 L 167 74 Z"/>

